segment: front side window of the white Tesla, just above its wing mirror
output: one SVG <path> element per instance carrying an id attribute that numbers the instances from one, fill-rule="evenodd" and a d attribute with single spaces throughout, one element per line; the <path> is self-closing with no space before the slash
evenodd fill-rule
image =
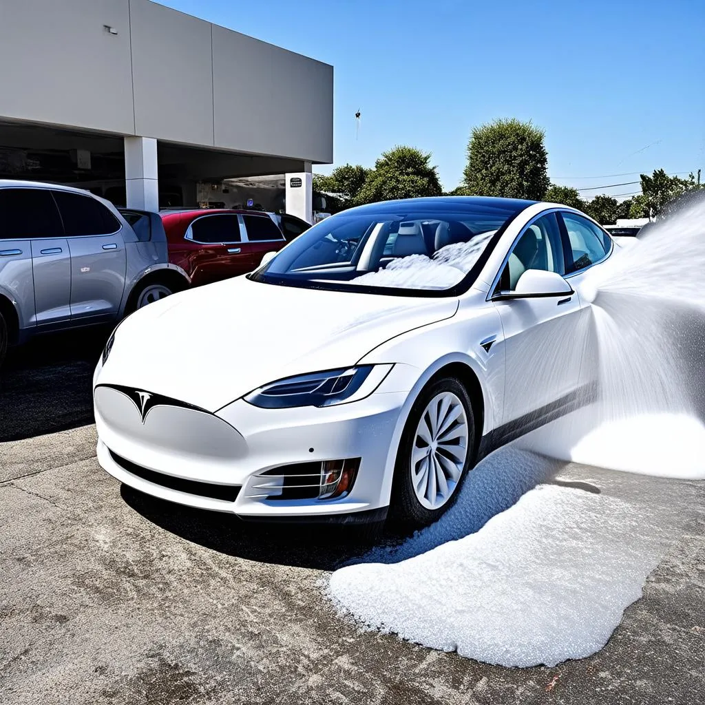
<path id="1" fill-rule="evenodd" d="M 517 240 L 502 272 L 498 291 L 514 291 L 527 269 L 565 274 L 563 244 L 555 213 L 534 221 Z"/>

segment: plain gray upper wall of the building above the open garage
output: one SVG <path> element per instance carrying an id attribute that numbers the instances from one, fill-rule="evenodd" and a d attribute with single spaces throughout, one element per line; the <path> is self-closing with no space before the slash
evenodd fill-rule
<path id="1" fill-rule="evenodd" d="M 0 67 L 0 118 L 333 161 L 332 66 L 149 0 L 0 0 Z"/>

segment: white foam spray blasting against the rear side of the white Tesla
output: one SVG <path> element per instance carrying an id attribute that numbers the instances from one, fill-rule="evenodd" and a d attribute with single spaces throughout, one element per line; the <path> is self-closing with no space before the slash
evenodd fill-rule
<path id="1" fill-rule="evenodd" d="M 705 195 L 705 193 L 704 193 Z M 705 478 L 705 199 L 589 271 L 585 365 L 599 401 L 525 447 L 613 470 Z"/>

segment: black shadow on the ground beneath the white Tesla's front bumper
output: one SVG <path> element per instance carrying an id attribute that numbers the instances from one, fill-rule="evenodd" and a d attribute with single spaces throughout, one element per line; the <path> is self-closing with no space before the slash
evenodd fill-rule
<path id="1" fill-rule="evenodd" d="M 121 486 L 123 501 L 161 529 L 186 541 L 260 563 L 335 570 L 373 546 L 398 540 L 381 527 L 247 522 L 235 515 L 168 502 Z"/>

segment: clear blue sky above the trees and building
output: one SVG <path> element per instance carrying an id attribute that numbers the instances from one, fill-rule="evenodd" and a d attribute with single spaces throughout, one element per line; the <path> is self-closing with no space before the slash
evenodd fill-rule
<path id="1" fill-rule="evenodd" d="M 472 126 L 516 117 L 546 131 L 556 183 L 625 183 L 585 197 L 661 167 L 705 180 L 705 0 L 163 4 L 331 63 L 336 166 L 412 145 L 454 188 Z"/>

